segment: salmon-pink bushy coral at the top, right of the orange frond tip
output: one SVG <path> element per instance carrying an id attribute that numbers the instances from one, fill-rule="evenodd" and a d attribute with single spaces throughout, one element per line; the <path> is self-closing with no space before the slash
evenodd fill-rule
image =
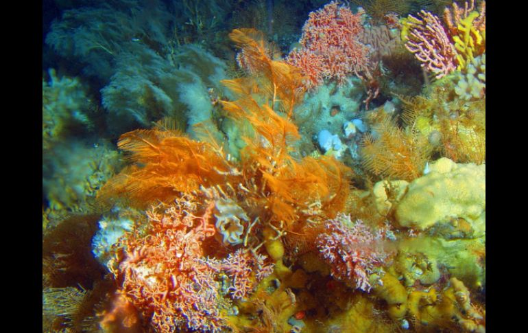
<path id="1" fill-rule="evenodd" d="M 322 84 L 326 78 L 336 78 L 342 84 L 346 76 L 364 71 L 368 65 L 368 48 L 359 43 L 363 32 L 361 15 L 333 1 L 311 12 L 304 23 L 300 49 L 287 57 L 290 65 L 307 76 L 307 88 Z"/>

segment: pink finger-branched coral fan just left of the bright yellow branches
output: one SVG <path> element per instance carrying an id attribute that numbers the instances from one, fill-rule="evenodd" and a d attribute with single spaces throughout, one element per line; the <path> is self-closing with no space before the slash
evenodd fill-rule
<path id="1" fill-rule="evenodd" d="M 455 47 L 437 16 L 424 10 L 418 16 L 420 19 L 409 15 L 405 47 L 422 62 L 422 67 L 442 78 L 457 69 Z"/>

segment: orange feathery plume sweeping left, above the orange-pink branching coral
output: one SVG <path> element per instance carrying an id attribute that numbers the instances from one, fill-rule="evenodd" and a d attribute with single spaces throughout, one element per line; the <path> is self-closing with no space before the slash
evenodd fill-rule
<path id="1" fill-rule="evenodd" d="M 134 164 L 104 185 L 99 198 L 125 196 L 139 207 L 154 200 L 168 203 L 178 192 L 235 177 L 221 150 L 173 130 L 134 130 L 121 135 L 117 146 L 130 152 Z"/>

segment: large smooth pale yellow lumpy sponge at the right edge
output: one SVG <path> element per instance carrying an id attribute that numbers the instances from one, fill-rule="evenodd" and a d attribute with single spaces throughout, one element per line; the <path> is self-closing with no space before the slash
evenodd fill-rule
<path id="1" fill-rule="evenodd" d="M 485 164 L 457 164 L 442 158 L 414 180 L 396 207 L 403 227 L 424 230 L 463 218 L 474 231 L 485 231 Z"/>

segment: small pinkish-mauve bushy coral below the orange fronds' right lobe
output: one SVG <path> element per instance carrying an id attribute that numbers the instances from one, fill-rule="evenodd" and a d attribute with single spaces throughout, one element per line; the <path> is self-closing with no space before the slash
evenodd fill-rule
<path id="1" fill-rule="evenodd" d="M 368 277 L 374 268 L 385 266 L 393 251 L 387 246 L 394 239 L 389 226 L 373 231 L 363 221 L 353 223 L 350 216 L 338 214 L 326 220 L 326 231 L 315 240 L 320 255 L 330 264 L 333 277 L 352 288 L 369 292 Z"/>

